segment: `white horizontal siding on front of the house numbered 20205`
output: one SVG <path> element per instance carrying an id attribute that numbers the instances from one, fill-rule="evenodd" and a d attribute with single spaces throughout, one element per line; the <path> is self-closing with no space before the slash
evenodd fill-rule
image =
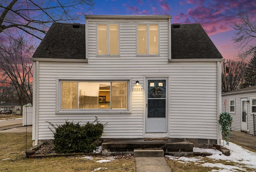
<path id="1" fill-rule="evenodd" d="M 136 26 L 142 21 L 157 24 L 159 31 L 158 55 L 138 55 Z M 172 62 L 170 56 L 169 20 L 115 19 L 120 28 L 120 56 L 97 56 L 97 23 L 102 19 L 86 19 L 86 59 L 88 63 L 34 62 L 33 137 L 53 139 L 48 127 L 63 124 L 65 120 L 94 121 L 95 116 L 105 124 L 102 138 L 143 138 L 145 133 L 146 78 L 168 78 L 168 134 L 170 138 L 217 139 L 218 116 L 218 65 L 220 62 Z M 210 58 L 210 57 L 209 57 Z M 210 60 L 210 59 L 209 59 Z M 128 108 L 126 113 L 96 111 L 93 113 L 56 112 L 59 80 L 129 80 Z M 140 82 L 135 86 L 136 81 Z M 38 84 L 38 85 L 36 85 Z M 143 91 L 132 91 L 132 88 Z M 48 122 L 47 122 L 48 121 Z M 38 135 L 37 135 L 38 134 Z"/>

